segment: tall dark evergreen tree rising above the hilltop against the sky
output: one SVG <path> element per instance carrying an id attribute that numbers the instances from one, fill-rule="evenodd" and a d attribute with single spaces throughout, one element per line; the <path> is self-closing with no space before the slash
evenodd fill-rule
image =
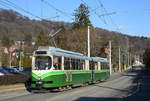
<path id="1" fill-rule="evenodd" d="M 91 26 L 89 13 L 88 7 L 81 3 L 74 13 L 75 22 L 73 28 L 87 27 L 88 25 Z"/>

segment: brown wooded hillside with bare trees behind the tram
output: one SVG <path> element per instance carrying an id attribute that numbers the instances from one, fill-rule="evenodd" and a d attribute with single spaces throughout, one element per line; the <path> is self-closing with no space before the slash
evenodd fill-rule
<path id="1" fill-rule="evenodd" d="M 57 31 L 61 28 L 62 30 L 55 36 L 57 47 L 87 55 L 87 28 L 77 30 L 72 29 L 72 25 L 67 22 L 31 20 L 13 10 L 0 9 L 0 45 L 10 47 L 15 40 L 25 40 L 25 43 L 39 42 L 37 40 L 40 32 L 48 37 L 52 30 Z M 113 61 L 117 61 L 119 46 L 122 51 L 142 54 L 150 44 L 150 38 L 146 37 L 133 37 L 95 27 L 91 27 L 90 31 L 91 55 L 106 57 L 104 48 L 108 47 L 108 41 L 111 40 Z M 6 39 L 9 44 L 6 44 Z M 48 40 L 49 45 L 53 45 L 50 39 Z"/>

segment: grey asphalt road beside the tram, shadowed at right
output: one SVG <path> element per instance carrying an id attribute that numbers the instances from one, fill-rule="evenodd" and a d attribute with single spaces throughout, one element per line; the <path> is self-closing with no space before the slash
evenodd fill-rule
<path id="1" fill-rule="evenodd" d="M 76 87 L 64 92 L 31 94 L 18 91 L 0 94 L 0 101 L 138 101 L 136 96 L 143 88 L 144 75 L 147 75 L 142 68 L 135 66 L 132 70 L 112 75 L 106 82 Z"/>

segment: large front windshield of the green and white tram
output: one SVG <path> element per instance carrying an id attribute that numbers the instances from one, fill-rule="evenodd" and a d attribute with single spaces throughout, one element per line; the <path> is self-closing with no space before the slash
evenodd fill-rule
<path id="1" fill-rule="evenodd" d="M 35 70 L 49 70 L 51 68 L 52 60 L 48 56 L 35 57 Z"/>

